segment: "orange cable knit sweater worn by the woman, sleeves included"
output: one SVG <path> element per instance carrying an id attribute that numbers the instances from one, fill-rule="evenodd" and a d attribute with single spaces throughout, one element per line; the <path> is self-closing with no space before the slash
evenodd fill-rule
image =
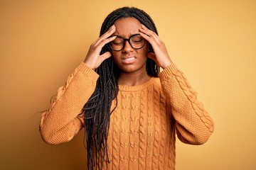
<path id="1" fill-rule="evenodd" d="M 81 63 L 58 89 L 41 117 L 46 143 L 68 142 L 84 127 L 78 114 L 98 77 Z M 213 132 L 213 120 L 175 64 L 145 84 L 119 86 L 117 101 L 110 117 L 106 169 L 175 169 L 176 135 L 181 142 L 201 145 Z"/>

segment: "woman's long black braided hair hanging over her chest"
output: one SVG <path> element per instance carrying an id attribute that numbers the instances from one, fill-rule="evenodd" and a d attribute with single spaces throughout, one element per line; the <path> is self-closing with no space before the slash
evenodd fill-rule
<path id="1" fill-rule="evenodd" d="M 156 34 L 156 26 L 150 16 L 139 8 L 122 7 L 112 11 L 105 21 L 102 23 L 100 36 L 107 32 L 107 30 L 114 25 L 114 21 L 119 18 L 134 17 L 140 21 L 146 28 L 154 31 Z M 109 45 L 105 45 L 100 54 L 112 50 Z M 149 51 L 154 52 L 149 44 Z M 158 77 L 159 66 L 156 62 L 147 58 L 146 72 L 151 77 Z M 82 115 L 85 120 L 85 143 L 87 147 L 87 166 L 88 169 L 102 169 L 104 162 L 109 162 L 107 153 L 107 136 L 110 128 L 110 107 L 112 101 L 117 101 L 118 93 L 118 68 L 114 64 L 113 57 L 108 58 L 100 67 L 95 69 L 95 72 L 100 75 L 97 79 L 95 91 L 90 96 L 90 99 L 85 103 L 82 109 Z M 117 107 L 117 104 L 114 108 Z"/>

